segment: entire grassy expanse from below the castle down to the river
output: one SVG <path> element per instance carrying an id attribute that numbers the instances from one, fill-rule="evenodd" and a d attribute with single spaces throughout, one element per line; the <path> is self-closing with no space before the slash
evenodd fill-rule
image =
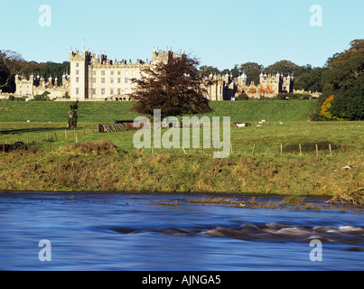
<path id="1" fill-rule="evenodd" d="M 60 107 L 64 106 L 67 111 L 67 106 L 50 103 L 55 109 L 50 119 L 59 122 L 50 120 L 49 123 L 44 115 L 38 118 L 42 121 L 39 123 L 0 122 L 0 144 L 22 141 L 30 148 L 26 153 L 0 155 L 0 190 L 329 195 L 341 200 L 358 200 L 357 197 L 362 196 L 364 129 L 361 122 L 309 122 L 306 119 L 308 107 L 314 104 L 310 101 L 240 103 L 213 104 L 215 114 L 219 113 L 219 116 L 233 115 L 231 121 L 253 122 L 253 126 L 247 128 L 231 125 L 232 154 L 220 160 L 212 157 L 212 148 L 203 152 L 186 149 L 186 154 L 181 148 L 154 149 L 152 152 L 133 147 L 135 132 L 99 134 L 97 120 L 111 123 L 115 119 L 135 117 L 130 112 L 129 115 L 123 113 L 126 117 L 117 117 L 118 109 L 126 111 L 129 103 L 81 103 L 79 110 L 89 106 L 89 118 L 79 122 L 76 132 L 68 130 L 66 139 L 66 121 L 60 120 L 63 109 Z M 10 104 L 13 105 L 6 103 Z M 265 110 L 254 108 L 256 104 L 266 106 Z M 288 113 L 275 114 L 268 109 L 269 106 L 275 109 L 281 106 L 278 110 L 284 110 L 282 107 L 294 107 L 293 104 L 297 110 L 291 117 Z M 21 106 L 26 105 L 22 103 Z M 240 112 L 229 113 L 233 105 Z M 40 111 L 34 103 L 31 106 Z M 105 106 L 105 109 L 98 106 Z M 304 113 L 303 107 L 306 107 Z M 23 112 L 26 113 L 31 114 L 28 110 Z M 241 114 L 248 119 L 238 118 Z M 301 117 L 297 117 L 299 114 Z M 52 117 L 51 114 L 48 116 Z M 102 116 L 109 118 L 101 121 L 104 120 Z M 266 125 L 256 126 L 255 122 L 263 118 Z M 279 121 L 284 125 L 279 125 Z M 75 133 L 79 144 L 75 144 Z M 319 144 L 318 155 L 315 144 Z M 331 144 L 331 152 L 328 144 Z M 347 165 L 349 167 L 343 169 Z"/>

